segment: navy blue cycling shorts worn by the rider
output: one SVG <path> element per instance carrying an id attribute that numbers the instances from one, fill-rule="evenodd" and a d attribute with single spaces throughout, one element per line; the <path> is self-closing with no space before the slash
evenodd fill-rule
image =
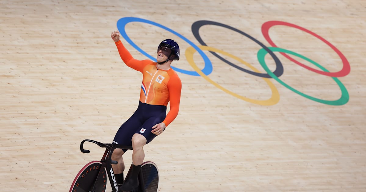
<path id="1" fill-rule="evenodd" d="M 152 127 L 163 122 L 166 116 L 167 106 L 149 105 L 140 101 L 135 113 L 118 129 L 113 143 L 132 146 L 131 139 L 135 133 L 143 135 L 147 140 L 146 144 L 151 142 L 156 137 L 151 132 Z"/>

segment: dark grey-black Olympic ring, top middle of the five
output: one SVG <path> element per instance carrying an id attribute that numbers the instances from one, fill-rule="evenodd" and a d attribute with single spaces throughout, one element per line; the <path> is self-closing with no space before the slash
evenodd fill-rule
<path id="1" fill-rule="evenodd" d="M 272 58 L 275 60 L 276 62 L 276 70 L 273 72 L 273 74 L 275 74 L 277 77 L 281 76 L 283 74 L 283 65 L 281 63 L 281 61 L 277 58 L 277 56 L 267 48 L 267 46 L 263 45 L 261 42 L 259 42 L 257 39 L 255 39 L 254 37 L 244 33 L 243 31 L 240 31 L 238 29 L 235 29 L 234 27 L 231 27 L 231 26 L 228 26 L 228 25 L 225 25 L 223 23 L 218 23 L 218 22 L 213 22 L 213 21 L 208 21 L 208 20 L 199 20 L 199 21 L 196 21 L 192 24 L 192 33 L 194 35 L 194 37 L 197 39 L 197 41 L 201 44 L 201 45 L 204 45 L 204 46 L 207 46 L 205 44 L 205 42 L 203 42 L 201 36 L 199 35 L 199 28 L 204 26 L 204 25 L 217 25 L 217 26 L 220 26 L 220 27 L 224 27 L 226 29 L 230 29 L 230 30 L 233 30 L 235 32 L 238 32 L 246 37 L 248 37 L 249 39 L 253 40 L 254 42 L 256 42 L 258 45 L 260 45 L 263 49 L 265 49 L 271 56 Z M 210 51 L 210 53 L 212 53 L 214 56 L 216 56 L 217 58 L 219 58 L 221 61 L 224 61 L 225 63 L 231 65 L 232 67 L 235 67 L 241 71 L 244 71 L 244 72 L 247 72 L 251 75 L 255 75 L 255 76 L 258 76 L 258 77 L 264 77 L 264 78 L 270 78 L 270 76 L 268 74 L 261 74 L 258 72 L 253 72 L 253 71 L 249 71 L 248 69 L 244 69 L 244 68 L 241 68 L 239 67 L 238 65 L 235 65 L 234 63 L 231 63 L 230 61 L 224 59 L 223 57 L 219 56 L 217 53 L 215 52 L 212 52 Z"/>

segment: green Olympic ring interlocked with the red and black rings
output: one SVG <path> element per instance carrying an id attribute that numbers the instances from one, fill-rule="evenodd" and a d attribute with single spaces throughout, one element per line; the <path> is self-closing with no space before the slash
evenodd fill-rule
<path id="1" fill-rule="evenodd" d="M 320 69 L 322 69 L 325 72 L 329 72 L 327 69 L 325 69 L 324 67 L 322 67 L 320 64 L 316 63 L 315 61 L 313 61 L 313 60 L 311 60 L 311 59 L 309 59 L 305 56 L 302 56 L 298 53 L 292 52 L 290 50 L 277 48 L 277 47 L 269 47 L 269 50 L 271 50 L 272 52 L 283 52 L 283 53 L 292 54 L 294 56 L 297 56 L 297 57 L 300 57 L 302 59 L 305 59 L 305 60 L 309 61 L 310 63 L 314 64 L 315 66 L 319 67 Z M 318 98 L 315 98 L 315 97 L 311 97 L 310 95 L 306 95 L 306 94 L 301 93 L 300 91 L 292 88 L 291 86 L 289 86 L 288 84 L 286 84 L 282 80 L 280 80 L 275 74 L 273 74 L 272 71 L 269 70 L 269 68 L 267 67 L 267 64 L 264 60 L 264 57 L 266 56 L 267 53 L 268 52 L 263 48 L 258 51 L 257 58 L 258 58 L 259 63 L 262 65 L 262 67 L 268 73 L 269 76 L 271 76 L 277 82 L 281 83 L 283 86 L 287 87 L 287 89 L 290 89 L 291 91 L 294 91 L 295 93 L 297 93 L 297 94 L 299 94 L 299 95 L 301 95 L 305 98 L 311 99 L 311 100 L 316 101 L 316 102 L 324 103 L 324 104 L 327 104 L 327 105 L 344 105 L 350 100 L 350 95 L 348 94 L 348 91 L 347 91 L 346 87 L 344 87 L 343 83 L 340 82 L 340 80 L 338 78 L 335 78 L 335 77 L 332 77 L 332 79 L 334 79 L 335 82 L 338 84 L 339 88 L 341 89 L 341 93 L 342 93 L 341 97 L 338 100 L 335 100 L 335 101 L 329 101 L 329 100 L 324 100 L 324 99 L 318 99 Z"/>

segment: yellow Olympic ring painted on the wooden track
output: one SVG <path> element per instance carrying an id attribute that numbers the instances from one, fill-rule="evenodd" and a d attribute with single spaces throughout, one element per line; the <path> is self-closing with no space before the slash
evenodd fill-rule
<path id="1" fill-rule="evenodd" d="M 250 65 L 249 63 L 243 61 L 242 59 L 240 59 L 239 57 L 236 57 L 230 53 L 227 53 L 227 52 L 224 52 L 222 50 L 219 50 L 219 49 L 216 49 L 216 48 L 212 48 L 212 47 L 208 47 L 208 46 L 202 46 L 202 45 L 199 45 L 198 46 L 200 49 L 202 50 L 209 50 L 211 52 L 217 52 L 217 53 L 221 53 L 221 54 L 224 54 L 228 57 L 231 57 L 237 61 L 239 61 L 240 63 L 243 63 L 244 65 L 248 66 L 249 68 L 251 68 L 253 71 L 255 72 L 259 72 L 258 69 L 254 68 L 252 65 Z M 193 47 L 188 47 L 186 49 L 186 58 L 187 58 L 187 61 L 188 63 L 193 67 L 193 69 L 195 71 L 197 71 L 197 73 L 199 75 L 201 75 L 204 79 L 206 79 L 208 82 L 210 82 L 211 84 L 213 84 L 214 86 L 216 86 L 217 88 L 225 91 L 226 93 L 228 94 L 231 94 L 233 95 L 234 97 L 236 98 L 239 98 L 239 99 L 242 99 L 244 101 L 248 101 L 248 102 L 251 102 L 251 103 L 254 103 L 254 104 L 258 104 L 258 105 L 275 105 L 276 103 L 279 102 L 280 100 L 280 94 L 278 92 L 278 90 L 276 89 L 275 85 L 267 78 L 263 78 L 265 80 L 265 82 L 269 85 L 270 89 L 272 90 L 272 96 L 271 98 L 269 98 L 268 100 L 255 100 L 255 99 L 250 99 L 250 98 L 246 98 L 246 97 L 243 97 L 241 95 L 238 95 L 232 91 L 229 91 L 227 89 L 225 89 L 224 87 L 220 86 L 219 84 L 217 84 L 216 82 L 214 82 L 212 79 L 210 79 L 207 75 L 203 74 L 202 71 L 199 70 L 199 68 L 197 67 L 197 65 L 194 63 L 194 60 L 193 60 L 193 54 L 196 52 L 195 49 L 193 49 Z"/>

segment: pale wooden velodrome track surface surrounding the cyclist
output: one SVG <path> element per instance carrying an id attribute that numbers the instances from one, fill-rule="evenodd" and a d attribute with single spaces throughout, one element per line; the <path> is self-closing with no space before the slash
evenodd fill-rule
<path id="1" fill-rule="evenodd" d="M 205 70 L 205 79 L 178 72 L 179 115 L 145 147 L 145 160 L 160 169 L 159 191 L 366 191 L 365 8 L 362 0 L 0 0 L 0 191 L 68 191 L 79 169 L 101 158 L 104 149 L 87 144 L 91 153 L 83 154 L 80 142 L 111 143 L 140 93 L 141 74 L 123 64 L 110 37 L 126 17 L 168 27 L 194 45 L 200 43 L 191 26 L 199 20 L 234 27 L 268 47 L 262 25 L 288 22 L 326 39 L 351 67 L 348 74 L 340 56 L 310 33 L 269 29 L 279 48 L 338 75 L 321 75 L 274 52 L 284 70 L 279 79 L 333 101 L 323 103 L 240 71 L 201 47 L 212 73 Z M 194 71 L 192 60 L 205 66 L 197 52 L 187 59 L 191 45 L 177 34 L 147 22 L 122 29 L 153 57 L 161 40 L 175 39 L 181 50 L 176 68 Z M 202 26 L 199 35 L 227 61 L 266 74 L 257 59 L 262 47 L 250 38 L 216 25 Z M 136 59 L 148 59 L 121 39 Z M 265 61 L 276 69 L 269 54 Z M 124 159 L 128 167 L 131 151 Z"/>

